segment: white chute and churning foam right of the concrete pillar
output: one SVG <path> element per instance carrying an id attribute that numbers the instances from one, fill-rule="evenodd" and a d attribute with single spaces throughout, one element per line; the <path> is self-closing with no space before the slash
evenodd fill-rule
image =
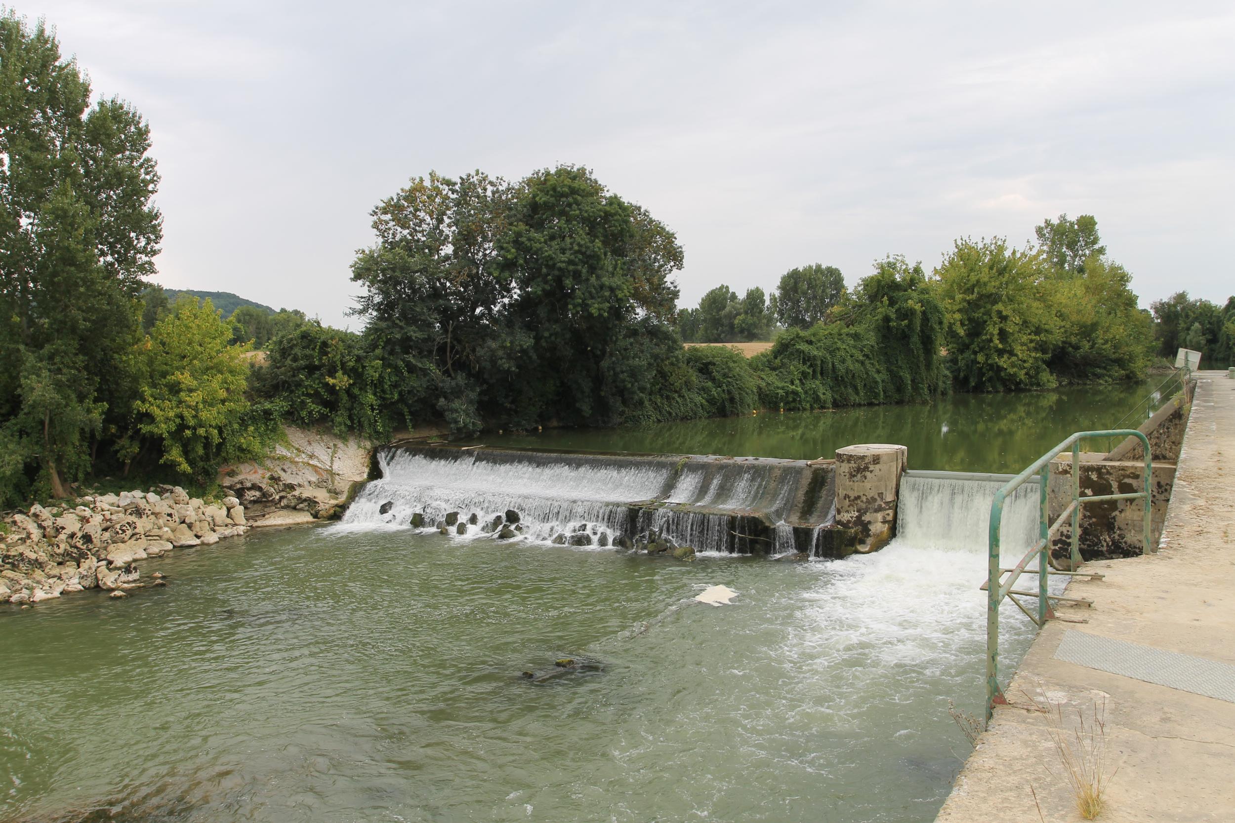
<path id="1" fill-rule="evenodd" d="M 799 566 L 820 576 L 806 595 L 783 653 L 818 670 L 836 695 L 832 711 L 857 723 L 865 702 L 918 684 L 934 693 L 974 693 L 973 669 L 986 648 L 987 524 L 998 482 L 906 478 L 898 534 L 881 552 Z M 1003 558 L 1019 560 L 1037 532 L 1037 486 L 1021 486 L 1004 507 Z M 1025 587 L 1036 587 L 1036 577 Z M 1053 581 L 1052 581 L 1053 582 Z M 1052 585 L 1058 590 L 1060 585 Z M 1015 660 L 1034 626 L 1005 602 L 1000 635 Z M 844 721 L 841 721 L 844 726 Z"/>

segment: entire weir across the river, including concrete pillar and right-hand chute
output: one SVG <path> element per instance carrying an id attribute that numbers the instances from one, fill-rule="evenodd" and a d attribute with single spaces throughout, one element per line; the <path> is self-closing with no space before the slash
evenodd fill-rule
<path id="1" fill-rule="evenodd" d="M 629 548 L 661 538 L 699 553 L 773 556 L 842 558 L 894 533 L 921 547 L 984 544 L 999 475 L 906 471 L 903 447 L 837 455 L 848 460 L 841 471 L 835 460 L 391 445 L 343 523 L 406 527 L 416 517 L 421 529 L 456 539 L 493 539 L 509 527 L 541 543 Z M 1032 542 L 1036 500 L 1026 486 L 1010 501 L 1010 550 Z"/>

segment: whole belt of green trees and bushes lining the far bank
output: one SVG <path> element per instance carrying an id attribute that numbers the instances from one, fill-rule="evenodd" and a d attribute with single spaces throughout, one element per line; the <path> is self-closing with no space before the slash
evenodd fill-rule
<path id="1" fill-rule="evenodd" d="M 91 104 L 42 23 L 4 12 L 0 48 L 0 506 L 105 474 L 210 479 L 282 421 L 373 439 L 614 426 L 1113 381 L 1177 345 L 1233 352 L 1235 300 L 1181 292 L 1155 323 L 1092 216 L 1047 220 L 1024 248 L 958 239 L 934 270 L 888 255 L 847 289 L 813 264 L 679 310 L 674 233 L 574 165 L 430 173 L 379 202 L 351 270 L 359 331 L 217 292 L 221 312 L 151 284 L 163 217 L 140 112 Z M 771 337 L 748 359 L 682 344 Z"/>

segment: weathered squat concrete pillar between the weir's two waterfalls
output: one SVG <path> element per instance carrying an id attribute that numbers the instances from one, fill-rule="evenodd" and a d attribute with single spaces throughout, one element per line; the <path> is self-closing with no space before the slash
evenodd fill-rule
<path id="1" fill-rule="evenodd" d="M 906 454 L 890 443 L 836 449 L 836 526 L 858 532 L 858 552 L 881 549 L 895 533 Z"/>

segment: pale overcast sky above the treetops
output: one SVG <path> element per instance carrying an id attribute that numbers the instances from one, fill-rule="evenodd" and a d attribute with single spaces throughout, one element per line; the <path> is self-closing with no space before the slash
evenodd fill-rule
<path id="1" fill-rule="evenodd" d="M 680 305 L 1063 212 L 1142 306 L 1235 292 L 1230 2 L 9 1 L 148 118 L 170 287 L 357 328 L 380 199 L 566 163 L 677 233 Z"/>

